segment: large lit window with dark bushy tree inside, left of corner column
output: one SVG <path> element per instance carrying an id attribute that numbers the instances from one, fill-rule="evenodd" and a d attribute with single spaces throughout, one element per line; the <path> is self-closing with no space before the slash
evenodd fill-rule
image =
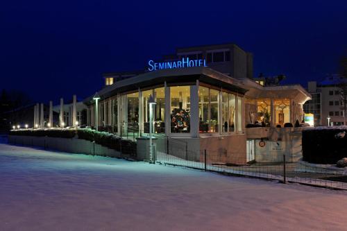
<path id="1" fill-rule="evenodd" d="M 190 132 L 190 86 L 170 87 L 171 132 Z"/>

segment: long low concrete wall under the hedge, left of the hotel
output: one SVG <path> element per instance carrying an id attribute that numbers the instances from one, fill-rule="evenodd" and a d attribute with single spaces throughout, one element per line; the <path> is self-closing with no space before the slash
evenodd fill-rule
<path id="1" fill-rule="evenodd" d="M 58 137 L 33 137 L 33 136 L 19 136 L 9 135 L 8 142 L 10 144 L 20 144 L 25 146 L 41 146 L 47 149 L 57 151 L 64 151 L 67 153 L 81 153 L 87 155 L 103 155 L 109 157 L 121 157 L 118 151 L 94 144 L 93 142 L 85 139 L 78 138 L 58 138 Z M 124 156 L 125 157 L 125 156 Z"/>

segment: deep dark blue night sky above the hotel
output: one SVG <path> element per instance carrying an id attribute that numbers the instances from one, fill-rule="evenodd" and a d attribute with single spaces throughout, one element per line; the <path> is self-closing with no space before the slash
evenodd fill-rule
<path id="1" fill-rule="evenodd" d="M 347 1 L 7 1 L 0 6 L 0 88 L 35 101 L 83 98 L 101 73 L 142 69 L 176 47 L 234 42 L 254 75 L 306 84 L 347 49 Z"/>

